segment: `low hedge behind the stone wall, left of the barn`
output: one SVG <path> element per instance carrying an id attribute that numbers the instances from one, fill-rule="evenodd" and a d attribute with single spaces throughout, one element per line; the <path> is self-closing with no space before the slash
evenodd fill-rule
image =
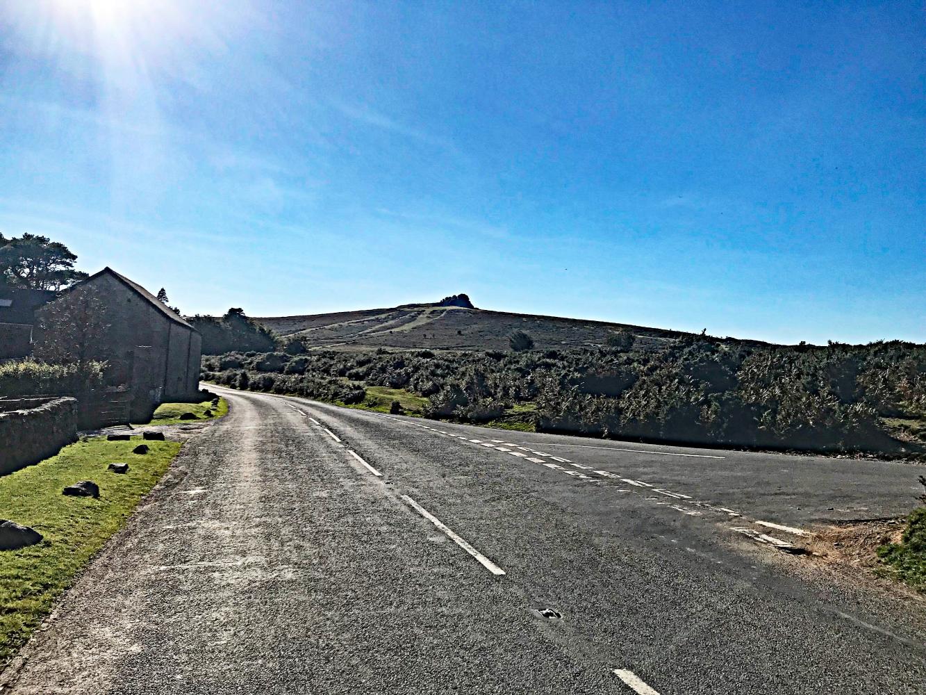
<path id="1" fill-rule="evenodd" d="M 0 364 L 0 397 L 79 396 L 103 383 L 105 362 L 46 364 L 19 360 Z"/>

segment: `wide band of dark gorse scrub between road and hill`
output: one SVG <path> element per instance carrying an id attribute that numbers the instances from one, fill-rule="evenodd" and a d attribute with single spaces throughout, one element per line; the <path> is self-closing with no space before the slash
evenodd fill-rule
<path id="1" fill-rule="evenodd" d="M 439 353 L 288 344 L 207 356 L 203 378 L 347 405 L 363 404 L 373 387 L 402 389 L 427 399 L 414 408 L 425 417 L 505 423 L 517 414 L 519 426 L 548 432 L 926 456 L 918 434 L 926 423 L 924 346 L 757 346 L 701 335 L 643 348 L 619 334 L 608 343 Z"/>

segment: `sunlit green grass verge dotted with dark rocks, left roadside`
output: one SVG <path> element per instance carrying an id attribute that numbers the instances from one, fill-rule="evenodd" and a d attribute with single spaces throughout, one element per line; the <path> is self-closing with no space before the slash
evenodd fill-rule
<path id="1" fill-rule="evenodd" d="M 95 437 L 0 477 L 0 519 L 32 526 L 44 536 L 29 548 L 0 551 L 0 669 L 83 565 L 125 524 L 181 447 L 149 441 L 149 453 L 131 453 L 140 439 L 110 442 Z M 129 473 L 106 471 L 111 461 L 128 462 Z M 64 486 L 81 480 L 100 486 L 100 498 L 61 494 Z"/>

